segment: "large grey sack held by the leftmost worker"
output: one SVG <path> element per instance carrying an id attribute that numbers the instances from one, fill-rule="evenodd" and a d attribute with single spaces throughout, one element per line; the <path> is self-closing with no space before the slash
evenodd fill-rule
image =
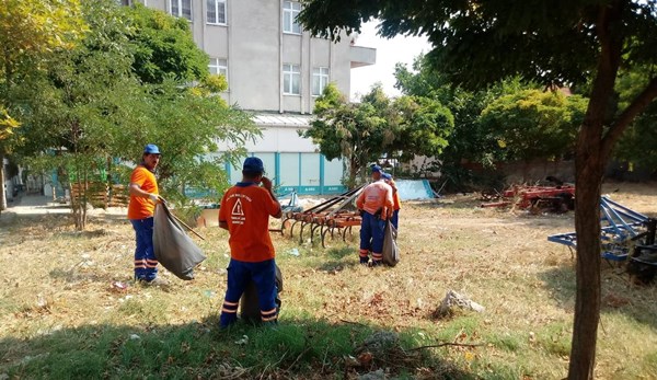
<path id="1" fill-rule="evenodd" d="M 164 204 L 155 206 L 153 220 L 155 258 L 180 279 L 194 279 L 194 267 L 206 260 L 198 245 L 173 218 Z"/>

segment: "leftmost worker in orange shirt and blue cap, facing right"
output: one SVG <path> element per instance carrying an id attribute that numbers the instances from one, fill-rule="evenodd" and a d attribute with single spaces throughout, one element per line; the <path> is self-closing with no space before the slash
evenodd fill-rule
<path id="1" fill-rule="evenodd" d="M 155 168 L 160 162 L 160 149 L 149 143 L 143 148 L 141 163 L 130 175 L 130 201 L 128 219 L 135 229 L 135 280 L 150 285 L 163 285 L 158 279 L 158 260 L 153 252 L 153 212 L 161 201 Z"/>

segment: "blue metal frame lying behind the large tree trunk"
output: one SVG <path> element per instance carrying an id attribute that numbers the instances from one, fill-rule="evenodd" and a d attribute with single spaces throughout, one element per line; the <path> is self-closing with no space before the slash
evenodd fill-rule
<path id="1" fill-rule="evenodd" d="M 600 198 L 600 241 L 602 244 L 602 257 L 611 261 L 624 261 L 630 255 L 626 243 L 636 238 L 648 220 L 643 214 L 636 212 L 608 197 Z M 575 232 L 557 233 L 548 237 L 548 241 L 577 247 L 577 234 Z"/>

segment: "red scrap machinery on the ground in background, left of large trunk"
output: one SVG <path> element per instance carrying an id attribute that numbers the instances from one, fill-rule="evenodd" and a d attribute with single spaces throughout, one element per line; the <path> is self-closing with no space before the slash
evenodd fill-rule
<path id="1" fill-rule="evenodd" d="M 515 206 L 521 209 L 551 210 L 565 212 L 575 207 L 575 186 L 525 186 L 516 185 L 502 194 L 484 194 L 484 200 L 493 200 L 482 204 L 482 207 L 506 207 Z"/>

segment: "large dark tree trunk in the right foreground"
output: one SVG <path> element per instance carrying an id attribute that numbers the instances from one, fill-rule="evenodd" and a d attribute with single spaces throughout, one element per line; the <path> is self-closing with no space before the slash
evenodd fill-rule
<path id="1" fill-rule="evenodd" d="M 609 139 L 604 126 L 612 124 L 608 110 L 621 62 L 621 15 L 626 0 L 601 5 L 596 33 L 600 55 L 589 104 L 577 137 L 575 162 L 575 231 L 577 232 L 577 296 L 568 379 L 592 380 L 600 321 L 600 193 Z M 625 128 L 619 126 L 619 128 Z M 613 129 L 613 128 L 612 128 Z M 613 139 L 613 137 L 612 137 Z"/>

